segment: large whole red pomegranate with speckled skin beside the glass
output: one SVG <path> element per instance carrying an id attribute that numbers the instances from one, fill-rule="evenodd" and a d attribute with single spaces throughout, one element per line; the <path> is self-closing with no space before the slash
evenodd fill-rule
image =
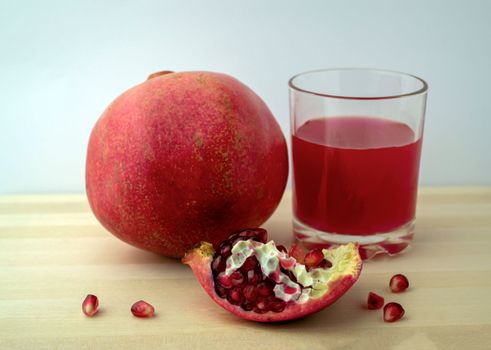
<path id="1" fill-rule="evenodd" d="M 213 72 L 152 75 L 123 93 L 94 126 L 86 160 L 102 225 L 170 257 L 260 226 L 287 177 L 285 138 L 266 104 Z"/>

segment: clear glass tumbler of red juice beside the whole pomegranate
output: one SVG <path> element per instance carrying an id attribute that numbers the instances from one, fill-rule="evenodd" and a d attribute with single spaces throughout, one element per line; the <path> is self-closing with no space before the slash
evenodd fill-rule
<path id="1" fill-rule="evenodd" d="M 398 254 L 414 235 L 428 86 L 416 76 L 341 68 L 289 81 L 293 230 L 308 249 L 358 242 Z"/>

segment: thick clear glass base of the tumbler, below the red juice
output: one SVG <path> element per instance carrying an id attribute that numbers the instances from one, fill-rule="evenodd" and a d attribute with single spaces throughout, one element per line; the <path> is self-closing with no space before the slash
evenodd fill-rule
<path id="1" fill-rule="evenodd" d="M 294 218 L 293 232 L 296 242 L 308 250 L 358 242 L 360 255 L 366 260 L 377 254 L 397 255 L 408 249 L 414 236 L 414 223 L 413 219 L 391 232 L 361 236 L 319 231 Z"/>

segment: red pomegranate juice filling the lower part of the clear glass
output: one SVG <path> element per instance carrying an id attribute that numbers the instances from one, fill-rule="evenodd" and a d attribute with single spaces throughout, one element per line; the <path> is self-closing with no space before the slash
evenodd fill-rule
<path id="1" fill-rule="evenodd" d="M 421 138 L 374 117 L 312 119 L 292 137 L 294 211 L 315 229 L 390 232 L 416 209 Z"/>

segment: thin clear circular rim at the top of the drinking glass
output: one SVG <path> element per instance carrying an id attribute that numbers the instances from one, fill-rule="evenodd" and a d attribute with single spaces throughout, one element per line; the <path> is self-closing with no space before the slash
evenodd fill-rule
<path id="1" fill-rule="evenodd" d="M 348 96 L 348 95 L 334 95 L 334 94 L 329 94 L 329 93 L 323 93 L 323 92 L 317 92 L 317 91 L 311 91 L 307 89 L 303 89 L 299 87 L 298 85 L 295 85 L 294 80 L 307 74 L 311 73 L 321 73 L 321 72 L 334 72 L 334 71 L 365 71 L 365 72 L 376 72 L 376 73 L 389 73 L 389 74 L 395 74 L 399 76 L 404 76 L 406 78 L 412 78 L 418 80 L 421 84 L 422 87 L 406 92 L 403 94 L 395 94 L 395 95 L 381 95 L 381 96 Z M 301 72 L 298 74 L 295 74 L 293 77 L 291 77 L 288 80 L 288 86 L 290 89 L 298 91 L 298 92 L 303 92 L 306 94 L 311 94 L 311 95 L 316 95 L 320 97 L 328 97 L 328 98 L 335 98 L 335 99 L 342 99 L 342 100 L 389 100 L 389 99 L 394 99 L 394 98 L 402 98 L 402 97 L 409 97 L 409 96 L 415 96 L 415 95 L 421 95 L 424 94 L 428 91 L 428 84 L 426 83 L 425 80 L 421 79 L 420 77 L 404 72 L 399 72 L 399 71 L 394 71 L 394 70 L 389 70 L 389 69 L 378 69 L 378 68 L 359 68 L 359 67 L 344 67 L 344 68 L 321 68 L 321 69 L 313 69 L 305 72 Z"/>

